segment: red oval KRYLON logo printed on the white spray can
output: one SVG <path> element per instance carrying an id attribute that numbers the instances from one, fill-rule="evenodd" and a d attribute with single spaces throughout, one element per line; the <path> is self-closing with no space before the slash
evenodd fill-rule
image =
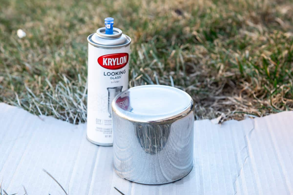
<path id="1" fill-rule="evenodd" d="M 128 53 L 114 53 L 102 55 L 98 58 L 98 63 L 101 67 L 117 70 L 126 66 L 128 62 Z"/>

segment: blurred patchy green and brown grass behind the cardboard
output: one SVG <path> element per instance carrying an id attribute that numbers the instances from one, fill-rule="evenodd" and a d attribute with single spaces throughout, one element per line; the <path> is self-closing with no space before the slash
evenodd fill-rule
<path id="1" fill-rule="evenodd" d="M 0 101 L 33 114 L 86 121 L 86 38 L 108 16 L 132 38 L 129 87 L 185 90 L 197 119 L 293 110 L 292 0 L 0 0 L 0 9 Z"/>

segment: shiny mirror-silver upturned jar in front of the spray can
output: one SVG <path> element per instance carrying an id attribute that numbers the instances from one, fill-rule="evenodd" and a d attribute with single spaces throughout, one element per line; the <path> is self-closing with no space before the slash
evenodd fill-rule
<path id="1" fill-rule="evenodd" d="M 193 168 L 193 100 L 163 85 L 130 88 L 112 102 L 114 168 L 142 184 L 164 184 Z"/>

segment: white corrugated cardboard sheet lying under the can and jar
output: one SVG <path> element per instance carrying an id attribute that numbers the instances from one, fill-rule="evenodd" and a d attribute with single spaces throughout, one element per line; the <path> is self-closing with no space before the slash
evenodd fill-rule
<path id="1" fill-rule="evenodd" d="M 112 147 L 86 140 L 86 125 L 0 103 L 0 180 L 8 194 L 293 194 L 293 112 L 215 125 L 195 121 L 194 167 L 183 179 L 144 185 L 113 170 Z"/>

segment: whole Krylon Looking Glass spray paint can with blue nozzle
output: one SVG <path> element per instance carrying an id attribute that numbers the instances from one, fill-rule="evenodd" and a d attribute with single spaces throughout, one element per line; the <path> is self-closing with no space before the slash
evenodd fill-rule
<path id="1" fill-rule="evenodd" d="M 87 138 L 101 146 L 113 145 L 111 102 L 128 88 L 131 39 L 113 28 L 114 19 L 88 36 Z"/>

